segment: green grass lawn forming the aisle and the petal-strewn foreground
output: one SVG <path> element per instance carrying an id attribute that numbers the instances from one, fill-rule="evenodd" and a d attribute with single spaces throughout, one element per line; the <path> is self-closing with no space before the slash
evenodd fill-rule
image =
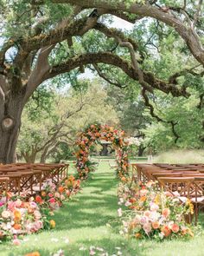
<path id="1" fill-rule="evenodd" d="M 115 226 L 118 209 L 116 190 L 114 171 L 110 170 L 106 162 L 101 162 L 99 170 L 93 174 L 92 180 L 86 182 L 82 193 L 55 213 L 54 231 L 27 236 L 21 246 L 1 245 L 0 255 L 21 256 L 39 251 L 41 255 L 47 256 L 62 249 L 65 255 L 80 256 L 89 255 L 90 246 L 103 247 L 109 256 L 117 255 L 116 247 L 121 247 L 120 251 L 124 256 L 204 255 L 204 235 L 190 241 L 174 240 L 161 243 L 150 240 L 124 240 L 117 229 L 106 226 L 107 223 Z"/>

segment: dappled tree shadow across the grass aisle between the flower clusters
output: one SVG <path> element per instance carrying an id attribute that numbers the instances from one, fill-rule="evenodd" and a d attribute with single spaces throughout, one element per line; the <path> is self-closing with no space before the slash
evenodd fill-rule
<path id="1" fill-rule="evenodd" d="M 117 181 L 110 174 L 96 174 L 84 191 L 55 213 L 57 230 L 104 226 L 117 217 Z M 107 193 L 108 192 L 108 193 Z"/>

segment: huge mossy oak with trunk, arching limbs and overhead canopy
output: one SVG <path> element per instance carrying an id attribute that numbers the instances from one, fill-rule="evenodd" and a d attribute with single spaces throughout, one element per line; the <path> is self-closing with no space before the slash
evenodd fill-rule
<path id="1" fill-rule="evenodd" d="M 35 90 L 56 77 L 77 86 L 85 69 L 121 89 L 137 87 L 151 116 L 173 133 L 176 121 L 156 111 L 156 94 L 197 95 L 202 113 L 202 0 L 1 0 L 0 6 L 0 161 L 14 161 L 22 109 Z M 115 16 L 134 23 L 133 30 L 112 28 Z"/>

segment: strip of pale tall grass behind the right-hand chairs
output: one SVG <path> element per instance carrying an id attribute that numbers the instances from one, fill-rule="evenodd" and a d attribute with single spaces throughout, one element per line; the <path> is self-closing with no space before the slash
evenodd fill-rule
<path id="1" fill-rule="evenodd" d="M 204 150 L 173 150 L 154 157 L 161 163 L 204 163 Z"/>

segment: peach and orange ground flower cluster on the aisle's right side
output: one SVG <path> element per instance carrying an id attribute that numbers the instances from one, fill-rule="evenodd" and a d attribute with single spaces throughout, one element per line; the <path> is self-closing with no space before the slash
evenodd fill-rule
<path id="1" fill-rule="evenodd" d="M 156 240 L 193 237 L 192 226 L 185 223 L 185 216 L 194 213 L 190 200 L 182 203 L 172 194 L 159 192 L 155 182 L 146 186 L 122 182 L 118 187 L 118 209 L 122 218 L 121 234 L 131 237 L 152 238 Z"/>

